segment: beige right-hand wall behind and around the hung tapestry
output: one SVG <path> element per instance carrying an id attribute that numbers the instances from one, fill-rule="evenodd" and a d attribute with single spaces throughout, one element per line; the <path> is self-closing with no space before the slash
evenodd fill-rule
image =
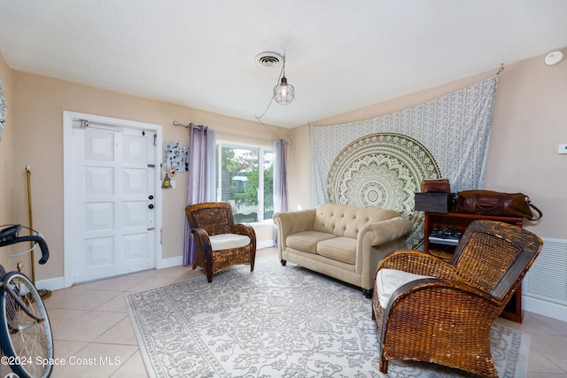
<path id="1" fill-rule="evenodd" d="M 557 154 L 557 147 L 559 143 L 567 143 L 567 60 L 546 66 L 543 58 L 505 66 L 500 73 L 485 189 L 528 194 L 544 217 L 538 222 L 525 221 L 524 227 L 543 237 L 564 239 L 567 238 L 567 155 Z M 397 112 L 485 80 L 497 69 L 319 120 L 312 126 L 339 125 Z M 309 127 L 292 129 L 291 141 L 290 208 L 307 209 L 310 207 L 309 187 L 305 184 L 309 182 Z"/>

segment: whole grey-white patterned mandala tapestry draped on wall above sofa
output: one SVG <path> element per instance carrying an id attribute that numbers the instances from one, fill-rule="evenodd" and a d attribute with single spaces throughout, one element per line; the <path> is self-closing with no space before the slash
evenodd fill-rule
<path id="1" fill-rule="evenodd" d="M 423 246 L 423 179 L 454 191 L 482 189 L 498 75 L 427 103 L 333 126 L 310 126 L 311 206 L 362 204 L 396 210 L 414 223 L 408 248 Z"/>

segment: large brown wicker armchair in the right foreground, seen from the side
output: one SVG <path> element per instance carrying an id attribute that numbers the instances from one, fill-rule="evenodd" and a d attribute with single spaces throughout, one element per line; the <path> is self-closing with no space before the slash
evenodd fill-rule
<path id="1" fill-rule="evenodd" d="M 542 245 L 540 237 L 517 226 L 476 220 L 449 262 L 408 250 L 384 258 L 377 267 L 372 299 L 380 371 L 387 373 L 388 360 L 405 359 L 498 377 L 490 328 Z M 399 286 L 388 287 L 400 271 L 409 277 L 394 277 Z"/>

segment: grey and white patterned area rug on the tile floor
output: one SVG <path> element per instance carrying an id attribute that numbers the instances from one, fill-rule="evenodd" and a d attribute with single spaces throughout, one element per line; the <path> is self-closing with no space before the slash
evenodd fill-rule
<path id="1" fill-rule="evenodd" d="M 276 258 L 126 297 L 151 377 L 468 377 L 391 361 L 378 371 L 377 326 L 361 289 Z M 529 335 L 493 325 L 501 377 L 523 377 Z"/>

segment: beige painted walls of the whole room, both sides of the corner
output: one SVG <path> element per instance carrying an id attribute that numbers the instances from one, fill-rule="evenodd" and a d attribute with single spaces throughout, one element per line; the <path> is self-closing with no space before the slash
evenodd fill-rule
<path id="1" fill-rule="evenodd" d="M 484 80 L 491 74 L 446 83 L 312 125 L 336 125 L 396 112 Z M 63 275 L 63 111 L 159 124 L 163 126 L 164 141 L 187 141 L 187 130 L 174 127 L 174 120 L 206 124 L 240 135 L 274 138 L 257 122 L 12 71 L 1 57 L 0 77 L 9 105 L 7 127 L 0 142 L 0 224 L 27 224 L 24 168 L 31 165 L 34 225 L 48 239 L 52 255 L 48 265 L 36 268 L 38 280 Z M 563 187 L 567 185 L 567 155 L 557 154 L 557 145 L 567 143 L 565 82 L 567 61 L 545 66 L 542 56 L 506 66 L 501 73 L 493 115 L 486 189 L 529 194 L 545 215 L 540 222 L 525 225 L 545 237 L 565 238 L 567 231 L 563 219 L 567 212 L 567 199 L 563 195 Z M 288 152 L 290 209 L 307 209 L 310 207 L 309 129 L 301 126 L 291 130 L 273 127 L 273 130 L 292 141 Z M 223 137 L 219 135 L 219 138 Z M 176 189 L 163 192 L 164 258 L 183 253 L 185 178 L 185 174 L 177 175 Z"/>

